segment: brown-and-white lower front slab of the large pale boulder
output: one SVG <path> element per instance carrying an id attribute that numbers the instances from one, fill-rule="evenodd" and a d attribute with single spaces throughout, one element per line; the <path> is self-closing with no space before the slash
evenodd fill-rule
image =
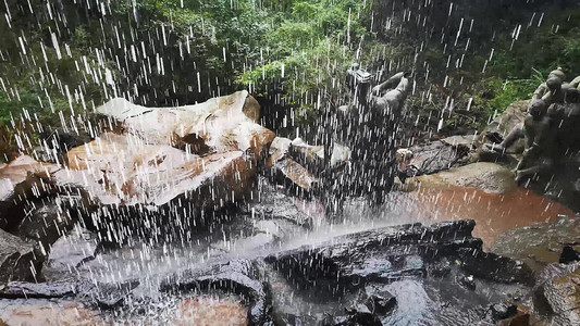
<path id="1" fill-rule="evenodd" d="M 243 151 L 198 156 L 166 145 L 135 146 L 135 139 L 103 134 L 73 149 L 69 152 L 72 170 L 54 174 L 58 183 L 84 184 L 103 204 L 162 205 L 187 196 L 205 205 L 215 203 L 220 196 L 231 197 L 232 191 L 240 195 L 257 173 L 256 160 Z M 210 186 L 213 193 L 209 193 Z"/>

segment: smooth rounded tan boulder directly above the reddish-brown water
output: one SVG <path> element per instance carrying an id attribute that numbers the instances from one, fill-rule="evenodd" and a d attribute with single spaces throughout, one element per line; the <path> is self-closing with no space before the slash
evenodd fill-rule
<path id="1" fill-rule="evenodd" d="M 423 189 L 470 187 L 489 193 L 507 195 L 517 189 L 514 174 L 507 167 L 495 163 L 479 162 L 447 172 L 420 176 L 409 180 Z M 410 187 L 411 189 L 415 188 Z"/>

